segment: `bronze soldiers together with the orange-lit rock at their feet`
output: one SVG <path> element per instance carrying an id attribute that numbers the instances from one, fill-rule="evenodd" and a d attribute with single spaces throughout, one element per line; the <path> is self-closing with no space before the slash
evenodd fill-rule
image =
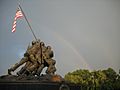
<path id="1" fill-rule="evenodd" d="M 19 71 L 16 73 L 16 80 L 26 80 L 26 78 L 38 78 L 39 80 L 42 77 L 42 80 L 48 79 L 51 81 L 56 78 L 57 81 L 63 81 L 63 78 L 60 75 L 56 75 L 56 61 L 53 59 L 54 53 L 51 46 L 46 46 L 44 42 L 40 41 L 40 39 L 33 40 L 31 45 L 28 45 L 26 52 L 24 53 L 24 57 L 12 67 L 8 69 L 8 76 L 13 76 L 12 72 L 14 72 L 21 65 Z M 42 70 L 47 67 L 45 73 L 41 74 Z M 45 77 L 43 79 L 43 76 Z M 46 78 L 47 77 L 47 78 Z M 7 77 L 6 77 L 7 78 Z M 8 77 L 9 80 L 11 78 Z M 36 79 L 38 80 L 38 79 Z M 41 81 L 42 81 L 41 80 Z"/>

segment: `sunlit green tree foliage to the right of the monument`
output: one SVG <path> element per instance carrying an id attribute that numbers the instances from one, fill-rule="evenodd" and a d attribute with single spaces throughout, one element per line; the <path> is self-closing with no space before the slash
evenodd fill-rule
<path id="1" fill-rule="evenodd" d="M 120 90 L 120 73 L 112 68 L 92 72 L 80 69 L 67 73 L 64 78 L 86 90 Z"/>

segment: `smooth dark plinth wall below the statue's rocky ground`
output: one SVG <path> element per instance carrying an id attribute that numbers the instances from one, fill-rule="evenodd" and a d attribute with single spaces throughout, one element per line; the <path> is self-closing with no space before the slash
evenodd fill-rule
<path id="1" fill-rule="evenodd" d="M 79 86 L 63 83 L 7 82 L 0 90 L 80 90 Z"/>

